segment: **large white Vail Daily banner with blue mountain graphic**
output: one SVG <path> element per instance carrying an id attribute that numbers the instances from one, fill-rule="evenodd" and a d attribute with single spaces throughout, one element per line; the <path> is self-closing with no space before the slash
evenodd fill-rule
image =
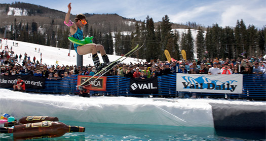
<path id="1" fill-rule="evenodd" d="M 242 74 L 176 74 L 176 91 L 242 93 Z"/>

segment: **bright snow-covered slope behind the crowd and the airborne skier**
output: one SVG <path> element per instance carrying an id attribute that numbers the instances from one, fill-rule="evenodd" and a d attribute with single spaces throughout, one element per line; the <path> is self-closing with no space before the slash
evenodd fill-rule
<path id="1" fill-rule="evenodd" d="M 18 46 L 16 45 L 18 43 Z M 13 45 L 14 44 L 14 45 Z M 24 58 L 24 54 L 27 53 L 28 56 L 30 56 L 30 60 L 33 59 L 33 57 L 36 57 L 36 60 L 41 60 L 41 53 L 42 53 L 42 63 L 47 65 L 56 65 L 56 61 L 58 61 L 58 65 L 77 65 L 77 53 L 75 53 L 74 50 L 70 51 L 70 55 L 68 56 L 69 50 L 68 49 L 60 49 L 55 48 L 53 46 L 45 46 L 40 44 L 34 44 L 34 43 L 28 43 L 23 41 L 14 41 L 14 40 L 3 40 L 2 39 L 2 49 L 1 52 L 5 49 L 5 46 L 8 45 L 9 51 L 14 51 L 15 55 L 18 56 L 21 54 L 22 58 Z M 35 51 L 36 48 L 36 51 Z M 40 49 L 40 52 L 39 52 Z M 83 56 L 83 65 L 93 65 L 92 61 L 92 55 L 84 55 Z M 115 61 L 120 56 L 115 55 L 108 55 L 110 61 Z M 101 55 L 99 54 L 100 61 L 102 61 Z M 139 61 L 142 61 L 141 59 Z M 145 61 L 145 60 L 143 60 Z M 123 61 L 126 64 L 130 64 L 130 62 L 139 63 L 137 59 L 134 58 L 127 58 Z"/>

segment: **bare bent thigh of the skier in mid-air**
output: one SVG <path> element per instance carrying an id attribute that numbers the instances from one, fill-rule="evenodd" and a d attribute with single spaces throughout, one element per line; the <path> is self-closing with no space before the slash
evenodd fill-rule
<path id="1" fill-rule="evenodd" d="M 97 46 L 95 43 L 85 44 L 82 46 L 78 46 L 77 52 L 79 55 L 86 55 L 86 54 L 97 54 Z"/>

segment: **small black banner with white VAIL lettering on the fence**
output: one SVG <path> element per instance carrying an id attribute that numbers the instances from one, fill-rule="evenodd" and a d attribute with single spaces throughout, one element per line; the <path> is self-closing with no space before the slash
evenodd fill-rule
<path id="1" fill-rule="evenodd" d="M 131 78 L 130 79 L 130 92 L 136 94 L 157 94 L 158 93 L 158 80 L 157 78 Z"/>

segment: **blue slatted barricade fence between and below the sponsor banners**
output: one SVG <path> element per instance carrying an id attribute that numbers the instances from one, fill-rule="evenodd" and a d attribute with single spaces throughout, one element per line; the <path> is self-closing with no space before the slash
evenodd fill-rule
<path id="1" fill-rule="evenodd" d="M 45 89 L 27 89 L 28 92 L 74 94 L 77 90 L 78 76 L 70 76 L 61 80 L 46 79 Z M 106 91 L 90 91 L 91 95 L 99 96 L 129 96 L 129 97 L 178 97 L 178 98 L 236 98 L 266 100 L 266 75 L 243 75 L 243 92 L 204 93 L 176 91 L 176 74 L 158 77 L 158 94 L 145 95 L 130 92 L 130 78 L 107 76 Z"/>

